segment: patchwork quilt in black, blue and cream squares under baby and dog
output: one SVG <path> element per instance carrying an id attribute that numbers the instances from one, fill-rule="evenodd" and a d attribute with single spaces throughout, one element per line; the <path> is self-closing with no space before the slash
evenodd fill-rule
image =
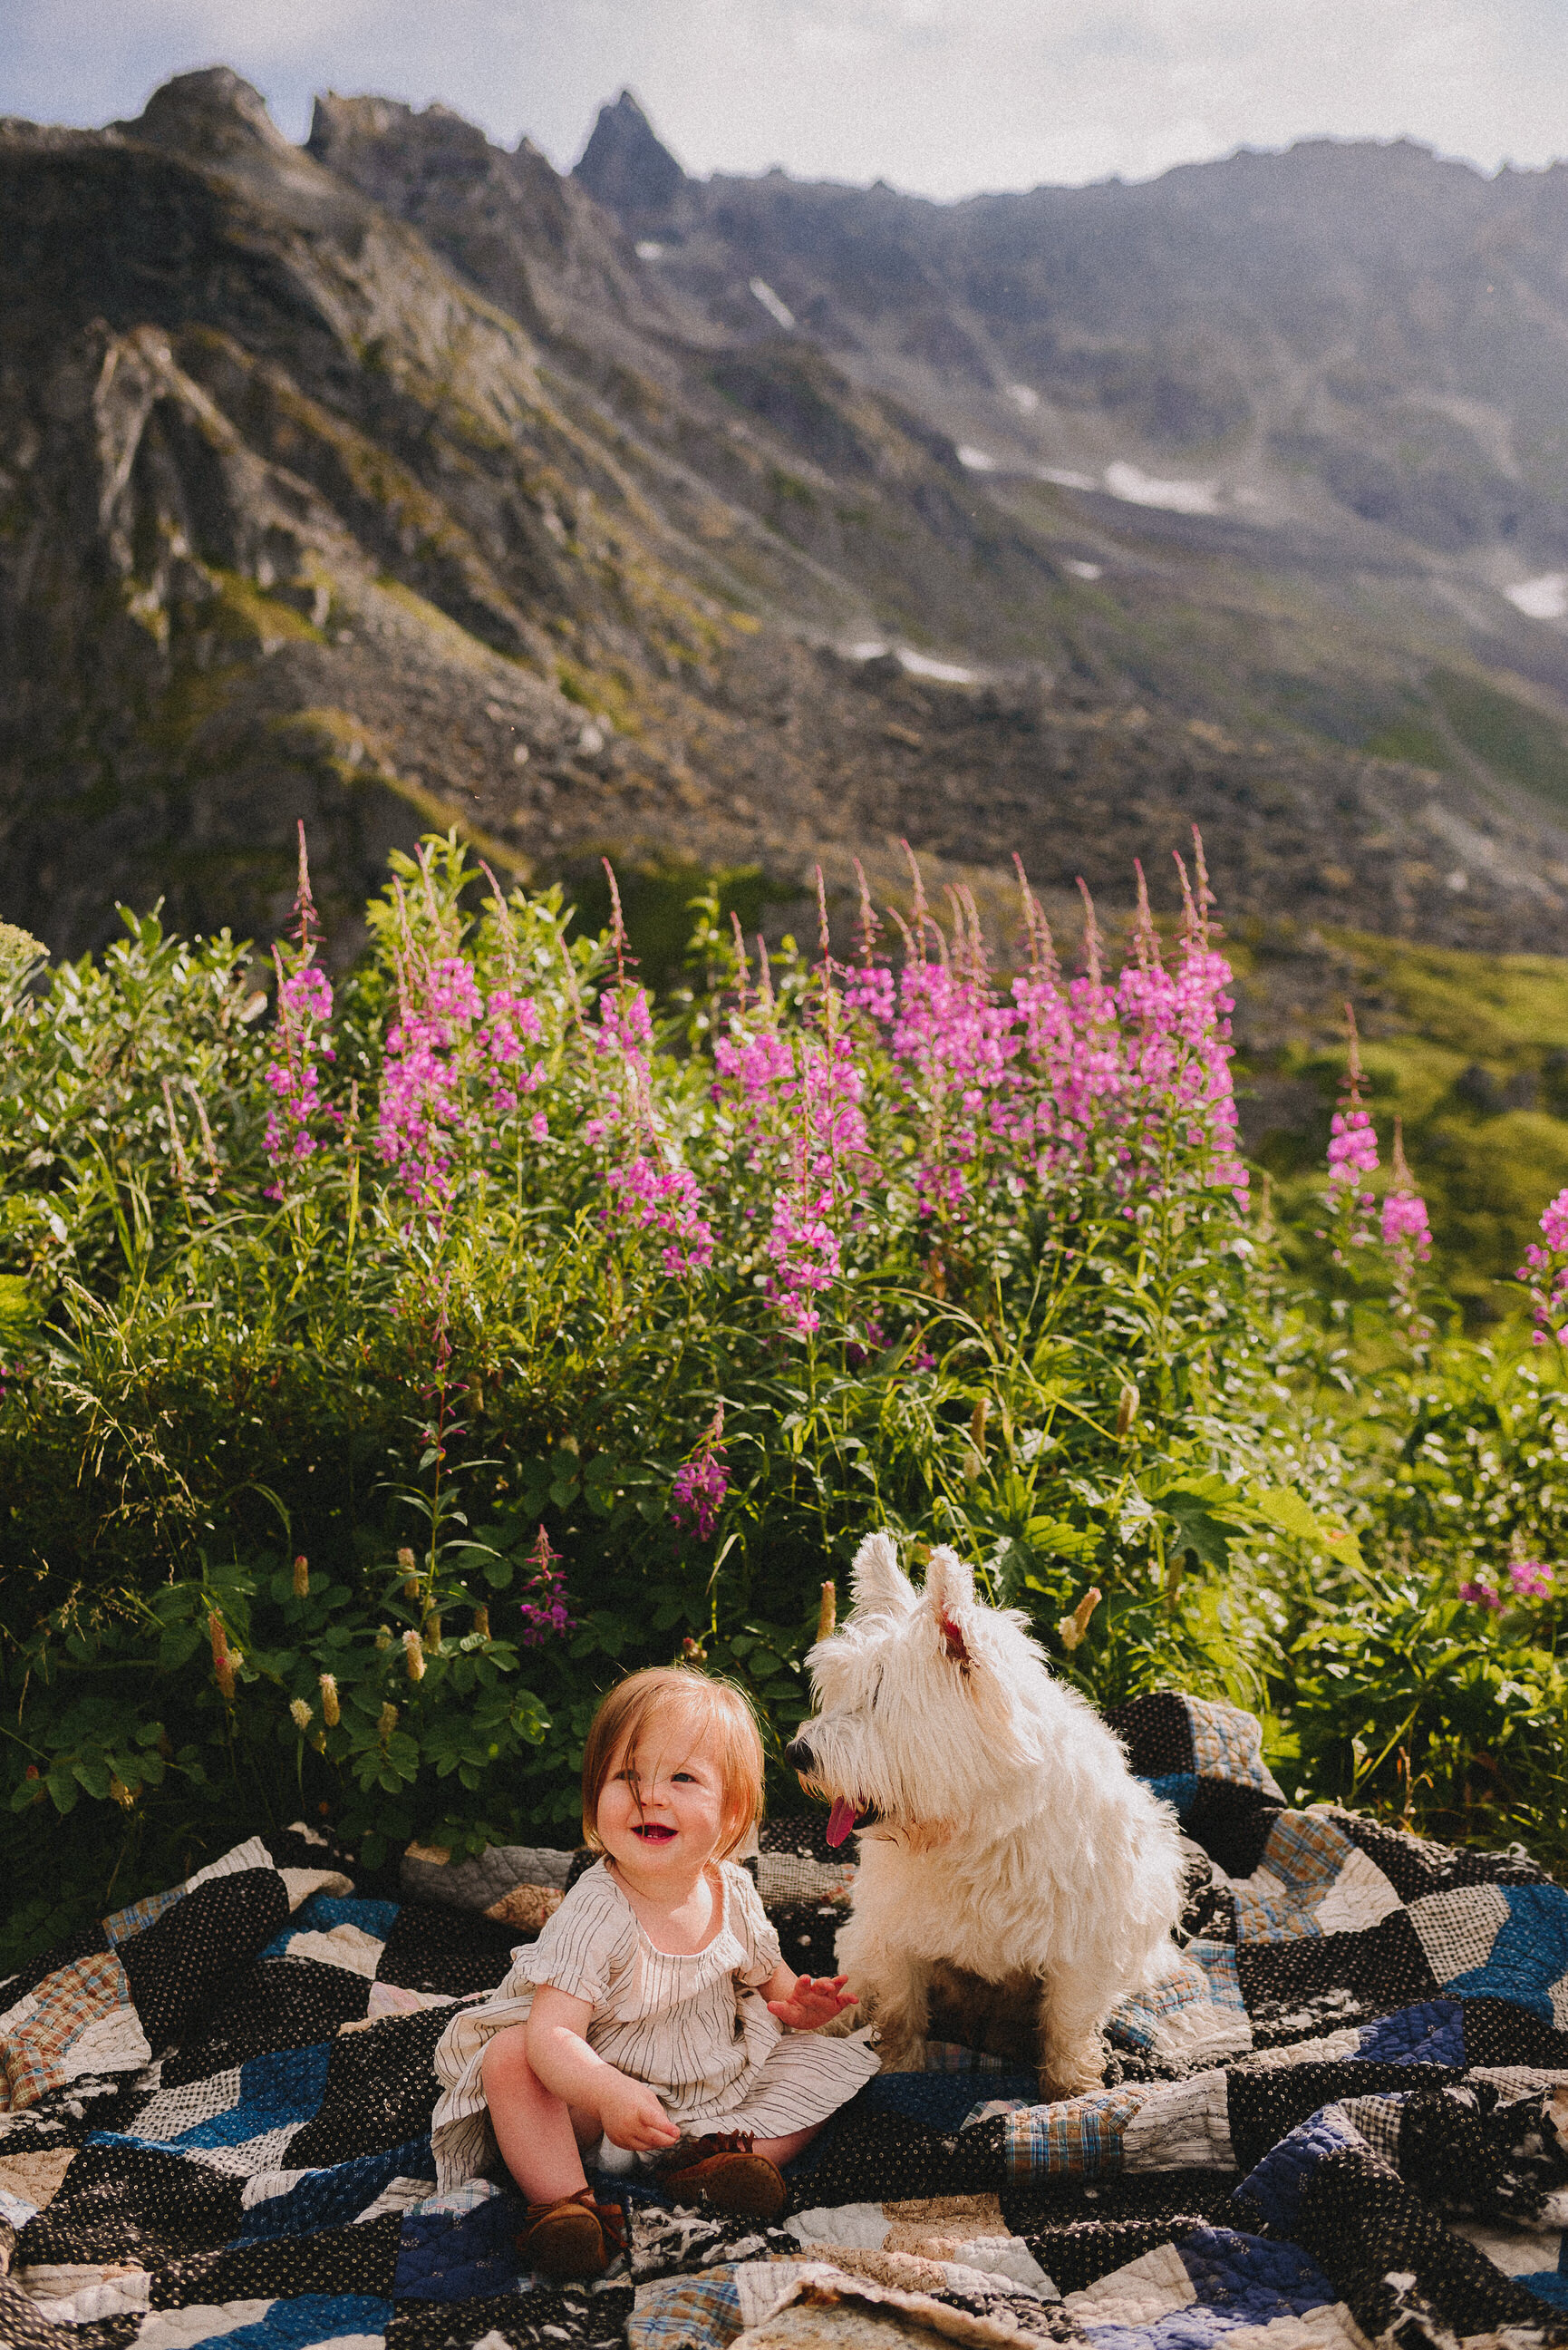
<path id="1" fill-rule="evenodd" d="M 1293 1810 L 1258 1725 L 1112 1716 L 1190 1852 L 1182 1965 L 1041 2103 L 994 2016 L 867 2082 L 780 2225 L 597 2178 L 628 2256 L 520 2270 L 505 2178 L 435 2193 L 433 2049 L 588 1854 L 252 1840 L 0 1983 L 0 2350 L 1093 2350 L 1568 2345 L 1568 1892 Z M 830 1965 L 853 1861 L 755 1859 Z"/>

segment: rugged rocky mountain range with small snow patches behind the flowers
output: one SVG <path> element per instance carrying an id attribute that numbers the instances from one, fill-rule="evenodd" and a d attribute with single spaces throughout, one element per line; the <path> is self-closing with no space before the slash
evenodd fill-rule
<path id="1" fill-rule="evenodd" d="M 0 125 L 0 916 L 388 844 L 1568 947 L 1568 174 L 562 176 L 226 70 Z M 1563 566 L 1561 571 L 1554 566 Z"/>

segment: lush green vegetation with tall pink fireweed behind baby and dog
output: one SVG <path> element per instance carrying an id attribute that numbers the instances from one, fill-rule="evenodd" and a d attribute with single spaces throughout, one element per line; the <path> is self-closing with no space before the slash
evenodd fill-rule
<path id="1" fill-rule="evenodd" d="M 658 1001 L 614 900 L 581 935 L 456 839 L 336 985 L 308 895 L 266 987 L 155 919 L 45 980 L 0 940 L 0 1967 L 301 1810 L 367 1866 L 571 1833 L 642 1661 L 778 1755 L 870 1525 L 1100 1701 L 1253 1706 L 1291 1793 L 1563 1859 L 1561 1351 L 1450 1328 L 1321 1137 L 1248 1196 L 1197 919 L 1114 982 L 1034 931 L 997 985 L 961 902 L 759 971 L 757 886 Z M 1460 1079 L 1547 1100 L 1568 973 L 1338 947 L 1462 1274 L 1568 1126 Z"/>

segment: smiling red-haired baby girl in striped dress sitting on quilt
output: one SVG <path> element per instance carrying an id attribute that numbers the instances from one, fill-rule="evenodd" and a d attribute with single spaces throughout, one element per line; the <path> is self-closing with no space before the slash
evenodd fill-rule
<path id="1" fill-rule="evenodd" d="M 689 1666 L 632 1673 L 595 1713 L 583 1835 L 602 1859 L 435 2049 L 437 2181 L 458 2186 L 498 2148 L 529 2197 L 529 2268 L 597 2275 L 618 2244 L 583 2155 L 654 2164 L 679 2176 L 682 2200 L 701 2190 L 776 2218 L 778 2164 L 877 2070 L 870 2033 L 813 2037 L 853 1995 L 842 1974 L 785 1967 L 729 1859 L 759 1810 L 762 1739 L 726 1683 Z"/>

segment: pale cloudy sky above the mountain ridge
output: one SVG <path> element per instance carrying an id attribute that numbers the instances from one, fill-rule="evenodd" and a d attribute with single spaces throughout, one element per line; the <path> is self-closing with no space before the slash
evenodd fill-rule
<path id="1" fill-rule="evenodd" d="M 689 172 L 929 195 L 1321 134 L 1568 153 L 1568 0 L 0 0 L 0 113 L 106 122 L 207 63 L 294 139 L 376 89 L 567 167 L 630 85 Z"/>

